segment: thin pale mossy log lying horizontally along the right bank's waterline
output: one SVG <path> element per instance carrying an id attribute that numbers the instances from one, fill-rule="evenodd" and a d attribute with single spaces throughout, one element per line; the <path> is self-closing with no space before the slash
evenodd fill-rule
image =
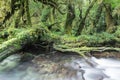
<path id="1" fill-rule="evenodd" d="M 91 52 L 107 52 L 107 51 L 114 51 L 114 52 L 120 52 L 120 48 L 114 48 L 114 47 L 78 47 L 78 48 L 73 48 L 73 47 L 65 47 L 64 45 L 54 45 L 54 49 L 57 51 L 61 52 L 74 52 L 82 57 L 86 58 L 87 55 Z M 87 54 L 87 55 L 86 55 Z"/>

